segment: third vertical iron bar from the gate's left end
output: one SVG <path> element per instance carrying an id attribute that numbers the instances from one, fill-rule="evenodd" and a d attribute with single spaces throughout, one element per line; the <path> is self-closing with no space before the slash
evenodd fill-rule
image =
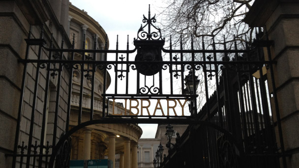
<path id="1" fill-rule="evenodd" d="M 53 48 L 53 34 L 51 34 L 51 42 L 50 42 L 50 49 Z M 52 51 L 49 52 L 49 60 L 52 58 Z M 39 154 L 43 153 L 42 146 L 44 145 L 44 139 L 45 139 L 45 127 L 46 127 L 46 115 L 47 115 L 47 107 L 48 107 L 48 93 L 49 93 L 49 83 L 50 83 L 50 74 L 51 74 L 51 63 L 48 63 L 47 65 L 47 76 L 46 76 L 46 88 L 45 88 L 45 97 L 44 97 L 44 109 L 43 109 L 43 118 L 42 118 L 42 127 L 41 127 L 41 135 L 40 135 L 40 148 L 39 148 Z M 39 160 L 42 161 L 42 156 L 39 156 Z M 38 162 L 38 167 L 41 168 L 42 162 Z"/>

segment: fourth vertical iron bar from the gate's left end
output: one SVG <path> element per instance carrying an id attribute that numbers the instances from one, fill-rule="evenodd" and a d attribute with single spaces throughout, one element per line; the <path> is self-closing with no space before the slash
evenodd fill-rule
<path id="1" fill-rule="evenodd" d="M 61 41 L 61 49 L 63 49 L 64 43 L 64 33 L 62 34 Z M 63 59 L 63 52 L 60 52 L 60 60 Z M 56 91 L 56 103 L 55 103 L 55 116 L 54 116 L 54 128 L 53 128 L 53 141 L 52 145 L 56 145 L 56 136 L 57 136 L 57 124 L 58 124 L 58 111 L 59 111 L 59 103 L 60 103 L 60 85 L 61 85 L 61 72 L 62 72 L 62 63 L 59 63 L 59 71 L 58 71 L 58 81 L 57 81 L 57 91 Z M 81 74 L 83 76 L 83 74 Z"/>

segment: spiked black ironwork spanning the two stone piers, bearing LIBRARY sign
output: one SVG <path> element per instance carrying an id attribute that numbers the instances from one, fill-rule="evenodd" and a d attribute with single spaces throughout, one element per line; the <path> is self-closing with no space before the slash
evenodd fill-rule
<path id="1" fill-rule="evenodd" d="M 149 12 L 149 17 L 145 17 L 144 23 L 151 26 L 154 21 L 155 18 L 151 18 Z M 206 47 L 204 40 L 201 46 L 194 46 L 191 39 L 190 49 L 183 49 L 182 41 L 179 49 L 173 49 L 170 38 L 170 47 L 165 49 L 160 46 L 164 43 L 164 39 L 157 35 L 161 33 L 159 29 L 153 33 L 150 28 L 149 32 L 144 32 L 143 28 L 145 27 L 141 27 L 138 33 L 141 37 L 147 38 L 135 39 L 137 48 L 133 50 L 129 50 L 129 40 L 126 50 L 119 50 L 118 42 L 116 50 L 108 50 L 107 40 L 104 50 L 97 50 L 96 43 L 94 49 L 90 50 L 74 49 L 74 45 L 66 49 L 63 40 L 60 48 L 55 48 L 50 38 L 44 39 L 42 30 L 39 39 L 32 39 L 30 36 L 26 39 L 26 56 L 19 60 L 25 66 L 12 155 L 13 168 L 23 167 L 24 164 L 26 168 L 35 166 L 52 168 L 55 165 L 68 167 L 71 135 L 79 129 L 97 123 L 190 124 L 189 132 L 182 136 L 178 146 L 162 163 L 162 167 L 164 165 L 169 168 L 182 168 L 199 165 L 207 168 L 237 168 L 240 164 L 243 166 L 247 163 L 253 164 L 253 160 L 266 165 L 271 159 L 275 160 L 271 162 L 275 166 L 277 158 L 284 157 L 281 129 L 278 129 L 278 136 L 282 149 L 278 153 L 273 133 L 273 124 L 280 126 L 278 105 L 277 101 L 274 101 L 273 108 L 277 118 L 273 122 L 269 111 L 270 96 L 266 83 L 267 79 L 274 84 L 272 69 L 274 62 L 271 59 L 265 60 L 259 47 L 238 49 L 238 45 L 233 43 L 230 45 L 233 48 L 227 49 L 229 45 L 226 42 L 219 45 L 213 42 Z M 156 45 L 155 42 L 158 44 L 157 47 L 152 47 Z M 85 41 L 83 46 L 84 43 Z M 32 52 L 31 47 L 36 47 L 37 52 Z M 150 54 L 149 50 L 154 50 L 154 54 Z M 130 55 L 136 51 L 137 55 L 143 57 L 137 59 L 135 55 Z M 162 52 L 165 54 L 164 57 L 154 58 L 163 56 Z M 255 54 L 252 54 L 254 52 Z M 74 59 L 76 53 L 81 56 L 81 60 Z M 86 53 L 90 55 L 86 56 Z M 97 54 L 103 54 L 104 59 L 96 60 Z M 28 65 L 35 66 L 33 72 L 35 74 L 28 72 Z M 262 74 L 265 65 L 269 67 L 267 78 Z M 148 68 L 151 69 L 150 72 L 146 72 Z M 260 73 L 259 79 L 252 77 L 252 73 L 257 70 Z M 80 77 L 76 77 L 80 79 L 81 85 L 78 89 L 79 107 L 73 116 L 78 120 L 76 125 L 69 129 L 74 71 L 81 74 Z M 187 93 L 183 91 L 184 76 L 189 71 L 194 74 L 193 85 L 197 76 L 200 83 L 198 90 L 194 89 Z M 103 92 L 97 97 L 102 100 L 102 109 L 97 111 L 93 108 L 96 72 L 100 72 L 103 79 Z M 29 111 L 24 108 L 23 111 L 24 89 L 29 87 L 25 85 L 27 78 L 32 79 L 34 83 L 33 100 L 30 105 L 32 108 Z M 108 92 L 110 81 L 114 81 L 115 87 Z M 82 122 L 82 102 L 85 94 L 83 86 L 87 82 L 91 85 L 90 109 L 87 110 L 90 117 L 88 121 Z M 52 100 L 53 123 L 50 123 L 53 131 L 50 136 L 45 136 L 50 83 L 56 87 L 55 100 Z M 276 100 L 275 85 L 272 85 L 272 88 L 271 94 Z M 44 94 L 41 94 L 43 96 L 38 94 L 39 89 L 44 91 Z M 141 117 L 136 108 L 130 107 L 130 110 L 124 110 L 127 113 L 113 114 L 111 104 L 114 100 L 137 103 L 143 99 L 148 99 L 147 102 L 156 101 L 154 112 L 147 111 Z M 176 115 L 175 110 L 171 108 L 174 105 L 168 105 L 167 110 L 162 108 L 159 102 L 162 100 L 177 104 L 184 104 L 185 101 L 188 102 L 189 109 L 184 111 L 185 108 L 181 108 L 180 112 L 184 111 L 184 115 Z M 144 108 L 145 106 L 148 105 L 144 105 Z M 36 121 L 36 116 L 42 118 L 41 123 Z M 21 128 L 21 120 L 24 117 L 30 121 L 28 132 Z M 40 131 L 37 131 L 37 128 Z M 22 135 L 24 133 L 24 136 L 20 136 L 21 133 Z M 45 139 L 50 140 L 50 145 L 45 145 Z M 27 148 L 23 140 L 27 143 Z M 22 145 L 18 147 L 19 143 Z M 248 165 L 256 166 L 250 164 Z"/>

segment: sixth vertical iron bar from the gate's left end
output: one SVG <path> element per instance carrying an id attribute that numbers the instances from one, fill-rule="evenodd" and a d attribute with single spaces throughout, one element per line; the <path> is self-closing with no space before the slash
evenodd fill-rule
<path id="1" fill-rule="evenodd" d="M 85 49 L 85 33 L 83 34 L 82 49 Z M 85 53 L 82 53 L 82 60 L 85 60 Z M 80 85 L 80 98 L 79 98 L 79 111 L 78 111 L 78 125 L 81 123 L 82 117 L 82 104 L 83 104 L 83 85 L 84 85 L 84 63 L 81 64 L 81 85 Z"/>

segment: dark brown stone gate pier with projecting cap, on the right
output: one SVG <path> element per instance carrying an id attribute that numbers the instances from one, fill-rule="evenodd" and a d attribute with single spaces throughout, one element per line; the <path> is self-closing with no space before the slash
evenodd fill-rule
<path id="1" fill-rule="evenodd" d="M 269 92 L 276 87 L 277 96 L 270 98 L 279 152 L 290 153 L 280 159 L 281 168 L 299 168 L 299 1 L 256 0 L 245 22 L 250 27 L 264 27 L 268 32 L 275 85 L 270 80 Z M 263 40 L 267 40 L 264 38 Z M 265 60 L 270 58 L 264 48 Z M 278 103 L 278 108 L 275 106 Z M 279 122 L 280 120 L 280 122 Z M 279 136 L 281 134 L 281 136 Z M 282 166 L 283 165 L 283 166 Z"/>

